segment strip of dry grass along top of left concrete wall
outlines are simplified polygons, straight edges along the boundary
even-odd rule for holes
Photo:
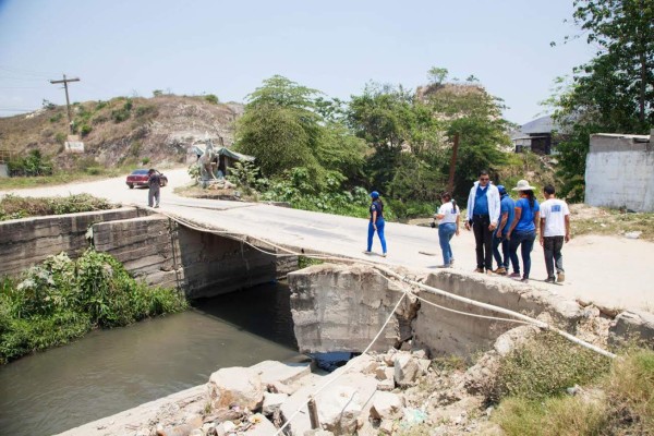
[[[106,210],[116,207],[117,205],[105,198],[97,198],[88,194],[46,198],[5,195],[0,199],[0,221],[46,215]]]

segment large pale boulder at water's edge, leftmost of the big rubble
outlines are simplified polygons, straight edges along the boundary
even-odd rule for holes
[[[216,409],[238,404],[257,410],[264,401],[261,377],[256,371],[240,366],[218,370],[209,378],[209,398]]]

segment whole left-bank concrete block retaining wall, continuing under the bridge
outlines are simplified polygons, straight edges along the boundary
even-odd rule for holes
[[[265,283],[298,267],[294,256],[278,258],[148,214],[122,208],[0,223],[0,276],[15,276],[61,252],[76,257],[90,245],[87,234],[97,251],[114,256],[135,277],[183,289],[192,299]]]

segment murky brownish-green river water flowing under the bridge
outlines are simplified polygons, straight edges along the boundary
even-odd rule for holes
[[[286,284],[206,299],[0,367],[0,435],[51,435],[206,383],[221,367],[301,359]]]

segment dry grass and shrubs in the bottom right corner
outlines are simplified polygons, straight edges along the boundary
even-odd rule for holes
[[[566,388],[581,385],[576,396]],[[654,434],[654,352],[608,361],[542,334],[500,362],[486,392],[508,436]]]

